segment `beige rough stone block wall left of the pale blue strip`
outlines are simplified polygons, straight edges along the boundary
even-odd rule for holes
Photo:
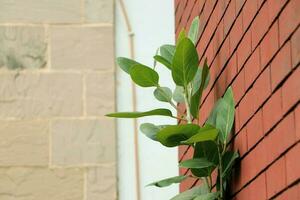
[[[116,199],[112,0],[0,0],[0,199]]]

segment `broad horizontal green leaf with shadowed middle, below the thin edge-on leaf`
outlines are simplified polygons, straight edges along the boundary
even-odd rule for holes
[[[180,145],[181,141],[192,137],[199,129],[196,124],[169,125],[160,130],[156,138],[164,146],[175,147]]]

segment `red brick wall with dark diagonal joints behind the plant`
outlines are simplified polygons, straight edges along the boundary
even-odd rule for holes
[[[200,17],[197,49],[210,65],[199,123],[229,85],[234,90],[231,144],[241,161],[232,199],[300,199],[300,0],[175,0],[175,6],[176,36]],[[179,160],[192,153],[180,147]],[[186,180],[180,190],[196,184]]]

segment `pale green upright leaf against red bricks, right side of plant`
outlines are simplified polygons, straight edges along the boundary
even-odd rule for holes
[[[218,107],[216,127],[220,130],[220,140],[225,142],[229,138],[234,121],[234,100],[232,89],[229,88]]]

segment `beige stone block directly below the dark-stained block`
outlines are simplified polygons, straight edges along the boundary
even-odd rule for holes
[[[0,94],[0,119],[82,116],[80,74],[1,74]]]

